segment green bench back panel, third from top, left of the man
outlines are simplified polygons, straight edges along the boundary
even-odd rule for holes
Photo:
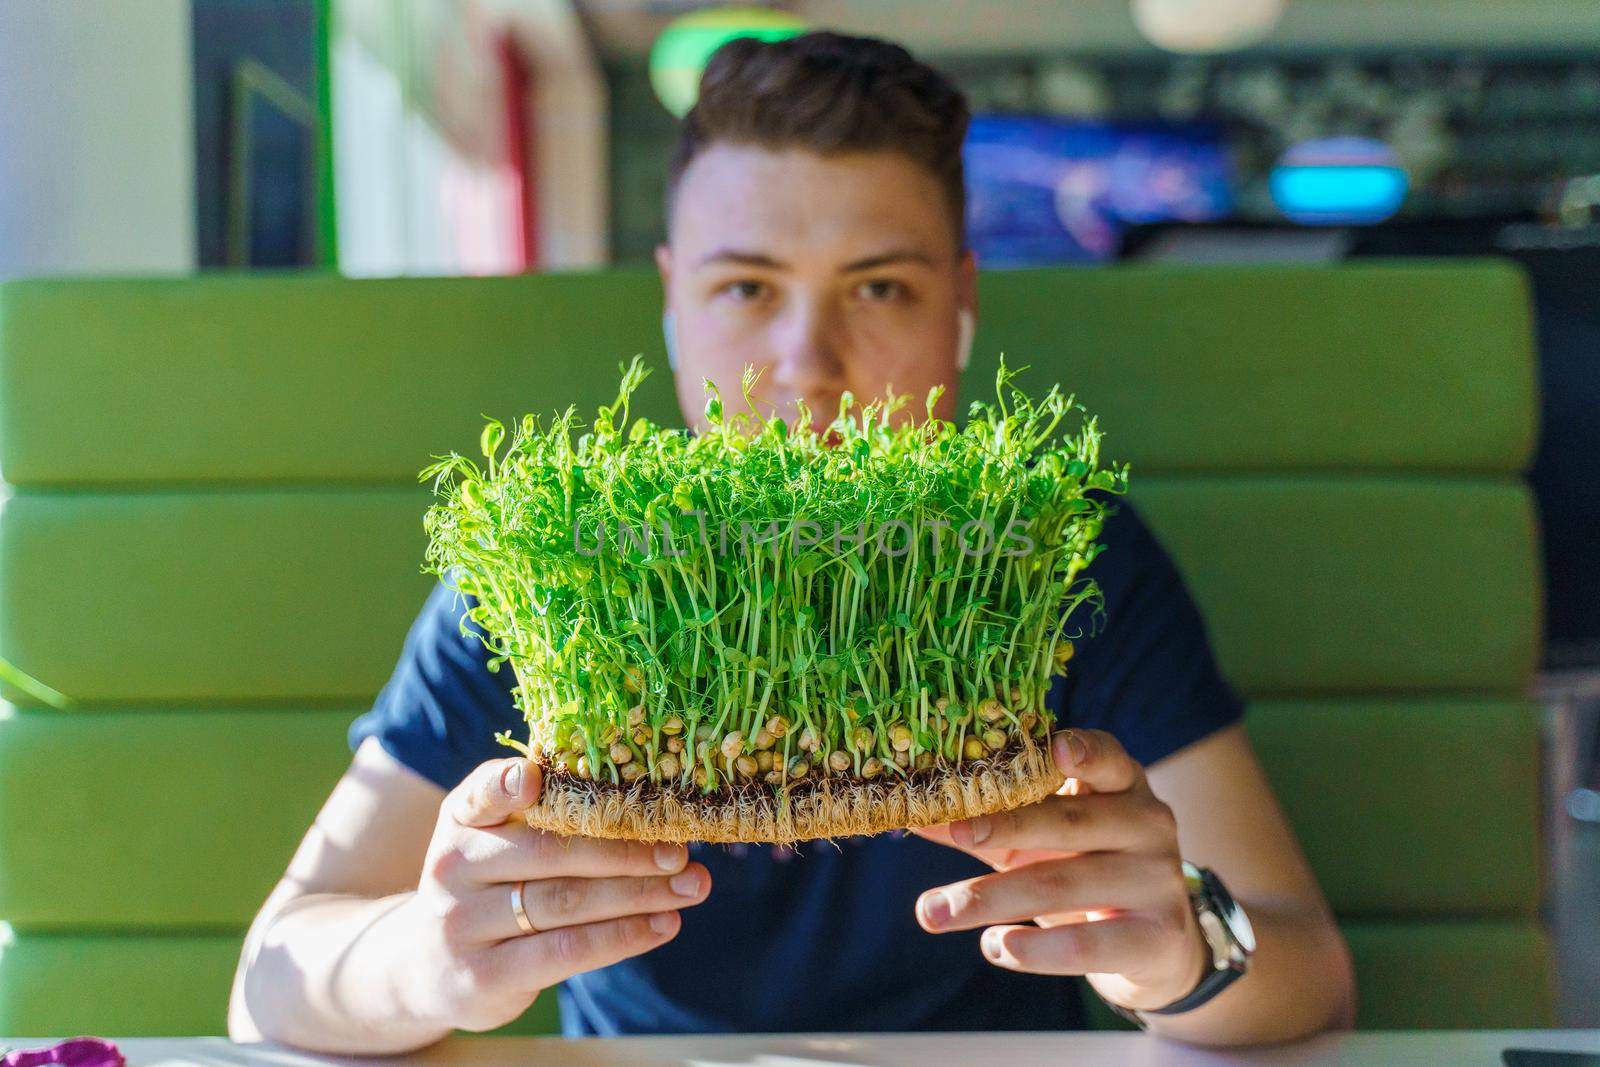
[[[248,925],[349,766],[355,715],[0,718],[0,915],[30,929]]]

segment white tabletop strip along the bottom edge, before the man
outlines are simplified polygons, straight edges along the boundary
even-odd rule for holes
[[[50,1040],[0,1038],[0,1048],[37,1048]],[[126,1038],[117,1046],[130,1067],[317,1067],[374,1061],[306,1056],[226,1038]],[[405,1062],[475,1067],[1222,1067],[1227,1064],[1338,1064],[1376,1067],[1498,1067],[1504,1048],[1600,1053],[1600,1030],[1406,1030],[1336,1033],[1296,1045],[1246,1051],[1206,1051],[1144,1033],[890,1033],[456,1038]],[[400,1062],[387,1059],[381,1062]]]

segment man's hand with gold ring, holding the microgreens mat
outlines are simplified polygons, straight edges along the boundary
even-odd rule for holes
[[[438,811],[416,894],[405,907],[416,966],[398,981],[419,1017],[490,1030],[573,974],[656,949],[699,904],[710,872],[682,845],[558,837],[520,813],[539,798],[539,768],[491,760]],[[512,889],[539,933],[525,934]]]

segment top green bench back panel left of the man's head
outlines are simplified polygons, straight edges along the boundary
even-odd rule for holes
[[[659,314],[626,272],[6,283],[0,475],[414,483],[480,413],[592,411],[640,350],[662,371],[640,408],[677,422]]]

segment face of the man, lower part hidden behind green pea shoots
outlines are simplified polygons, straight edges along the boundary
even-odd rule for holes
[[[955,403],[957,309],[974,309],[976,264],[950,234],[939,182],[898,152],[821,157],[717,144],[678,182],[670,242],[656,250],[677,320],[678,403],[704,429],[702,379],[742,408],[758,370],[762,416],[821,429],[845,390],[890,387]]]

